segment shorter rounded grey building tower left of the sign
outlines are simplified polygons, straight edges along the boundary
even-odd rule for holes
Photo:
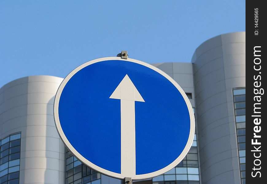
[[[0,183],[64,183],[65,147],[53,103],[63,79],[30,76],[0,89]]]

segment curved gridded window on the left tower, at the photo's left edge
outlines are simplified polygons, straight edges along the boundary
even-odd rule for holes
[[[18,184],[21,133],[5,137],[0,145],[0,184]]]

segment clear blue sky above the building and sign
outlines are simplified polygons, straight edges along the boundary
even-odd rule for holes
[[[1,0],[0,87],[28,75],[65,77],[89,60],[191,62],[203,41],[245,31],[245,0]]]

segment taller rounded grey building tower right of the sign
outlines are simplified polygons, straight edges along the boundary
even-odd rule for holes
[[[205,41],[192,57],[202,184],[245,184],[246,33]]]

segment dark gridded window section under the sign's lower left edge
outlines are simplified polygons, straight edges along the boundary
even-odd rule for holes
[[[82,164],[66,148],[66,184],[100,184],[101,174]]]

